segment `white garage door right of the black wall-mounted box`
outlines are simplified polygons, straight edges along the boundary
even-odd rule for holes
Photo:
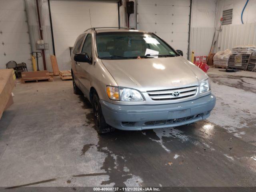
[[[138,0],[139,30],[153,32],[188,54],[190,0]]]

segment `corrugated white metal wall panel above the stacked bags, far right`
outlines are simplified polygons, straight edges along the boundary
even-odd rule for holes
[[[215,46],[215,52],[238,45],[256,45],[256,23],[224,25]]]

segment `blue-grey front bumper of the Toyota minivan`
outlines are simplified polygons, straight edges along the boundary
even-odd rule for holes
[[[116,105],[100,100],[106,123],[121,130],[144,130],[190,124],[210,116],[213,94],[180,103]]]

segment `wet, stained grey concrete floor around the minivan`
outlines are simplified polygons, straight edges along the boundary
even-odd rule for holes
[[[0,120],[0,186],[256,186],[256,73],[247,73],[210,69],[208,120],[102,136],[71,81],[18,84]]]

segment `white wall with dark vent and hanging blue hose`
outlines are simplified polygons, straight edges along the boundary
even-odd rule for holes
[[[216,33],[219,33],[220,18],[223,10],[233,9],[232,24],[221,26],[215,46],[215,52],[232,49],[234,46],[256,44],[256,0],[249,0],[243,14],[246,0],[218,0]]]

